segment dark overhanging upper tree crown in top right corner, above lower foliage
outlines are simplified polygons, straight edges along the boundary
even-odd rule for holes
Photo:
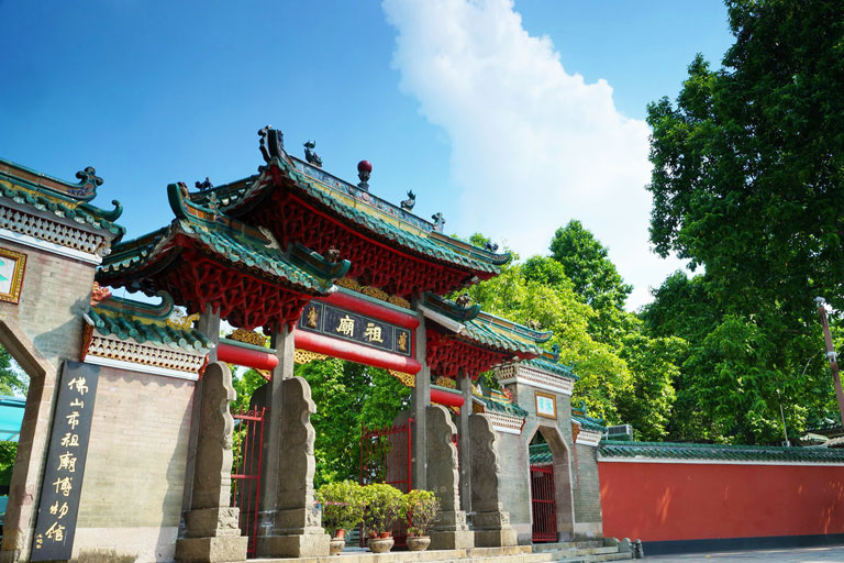
[[[698,55],[648,106],[651,235],[744,312],[844,309],[844,4],[732,0],[723,68]]]

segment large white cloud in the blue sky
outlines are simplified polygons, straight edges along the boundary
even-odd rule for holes
[[[398,30],[401,89],[451,140],[462,233],[546,254],[579,219],[635,286],[634,308],[680,267],[649,252],[648,128],[615,109],[606,80],[569,74],[548,37],[531,36],[510,0],[385,0]],[[451,218],[449,218],[451,219]]]

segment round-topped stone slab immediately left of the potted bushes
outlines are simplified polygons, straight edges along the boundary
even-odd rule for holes
[[[292,341],[292,335],[290,334]],[[291,347],[292,351],[292,347]],[[292,354],[290,357],[292,363]],[[331,539],[321,526],[320,511],[313,505],[314,431],[311,415],[316,407],[311,400],[311,387],[301,377],[273,377],[274,396],[270,419],[279,426],[279,439],[269,442],[276,455],[264,484],[275,498],[262,493],[262,514],[257,538],[260,558],[309,558],[329,554]],[[276,389],[276,386],[277,389]],[[282,398],[276,405],[276,393]],[[265,430],[266,432],[266,430]],[[266,459],[266,457],[265,457]]]

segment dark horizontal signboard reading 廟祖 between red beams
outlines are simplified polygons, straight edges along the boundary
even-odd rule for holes
[[[410,356],[413,352],[409,329],[318,300],[304,307],[297,329],[403,356]]]

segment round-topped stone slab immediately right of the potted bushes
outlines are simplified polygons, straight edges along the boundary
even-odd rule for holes
[[[440,514],[431,532],[432,550],[475,547],[466,512],[460,510],[457,449],[452,442],[456,429],[441,405],[427,407],[427,487],[440,498]]]

